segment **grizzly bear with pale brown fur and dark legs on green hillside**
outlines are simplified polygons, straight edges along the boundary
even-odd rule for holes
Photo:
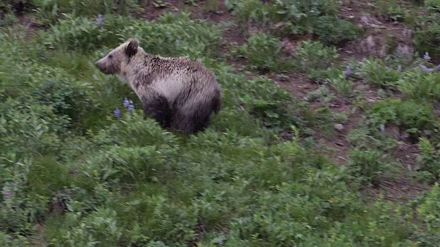
[[[201,62],[146,54],[135,38],[110,51],[96,66],[129,84],[142,102],[144,119],[153,117],[166,130],[203,131],[212,113],[221,109],[220,86]]]

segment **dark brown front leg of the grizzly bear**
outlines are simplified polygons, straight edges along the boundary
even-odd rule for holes
[[[152,117],[164,129],[171,126],[171,108],[168,100],[164,95],[155,95],[154,97],[144,101],[144,119]]]

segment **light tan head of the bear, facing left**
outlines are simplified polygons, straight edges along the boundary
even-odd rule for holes
[[[129,60],[137,54],[139,47],[139,40],[129,38],[126,42],[110,51],[107,56],[98,60],[95,64],[98,69],[107,75],[117,75],[121,73],[123,64],[127,64]]]

